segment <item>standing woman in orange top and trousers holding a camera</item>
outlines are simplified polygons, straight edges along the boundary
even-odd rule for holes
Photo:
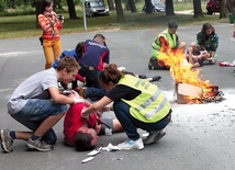
[[[58,18],[53,11],[53,0],[44,0],[37,20],[43,30],[42,45],[46,58],[45,69],[48,69],[52,67],[53,61],[58,59],[60,55],[61,42],[58,30],[63,27],[64,18]],[[54,60],[52,50],[54,53]]]

